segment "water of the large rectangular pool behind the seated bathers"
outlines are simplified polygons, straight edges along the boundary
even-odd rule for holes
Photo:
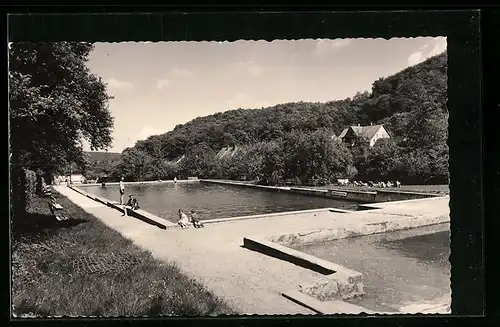
[[[110,201],[119,200],[117,185],[82,189]],[[134,194],[141,209],[172,222],[178,220],[180,208],[195,209],[200,219],[206,220],[320,208],[356,210],[358,205],[351,201],[204,182],[131,184],[125,187],[125,198],[129,194]]]

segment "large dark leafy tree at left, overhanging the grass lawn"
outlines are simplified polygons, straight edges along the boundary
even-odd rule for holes
[[[51,174],[83,164],[82,140],[111,144],[110,96],[86,66],[84,42],[13,43],[9,49],[10,145],[13,167]]]

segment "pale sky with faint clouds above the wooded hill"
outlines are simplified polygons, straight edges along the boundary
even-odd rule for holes
[[[352,97],[445,50],[445,37],[96,43],[88,67],[114,97],[121,152],[199,116]]]

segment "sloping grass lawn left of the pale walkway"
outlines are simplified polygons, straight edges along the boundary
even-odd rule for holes
[[[12,303],[16,316],[234,314],[170,264],[155,260],[67,198],[71,226],[53,222],[36,198],[13,227]]]

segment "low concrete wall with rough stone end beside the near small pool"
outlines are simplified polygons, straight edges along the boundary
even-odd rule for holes
[[[299,285],[302,293],[320,301],[349,299],[364,294],[363,275],[360,272],[262,239],[245,237],[243,246],[324,274],[311,285]]]

